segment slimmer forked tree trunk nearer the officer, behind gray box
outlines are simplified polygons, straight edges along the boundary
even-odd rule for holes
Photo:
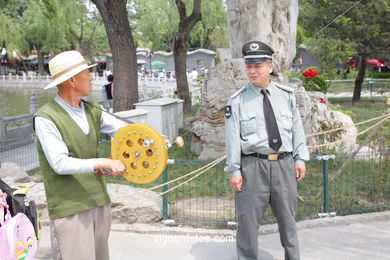
[[[194,0],[192,14],[186,16],[186,6],[181,0],[176,0],[180,16],[179,31],[176,33],[173,44],[173,57],[175,61],[177,94],[184,100],[183,112],[191,111],[191,97],[187,80],[187,50],[188,34],[202,18],[200,12],[201,0]]]

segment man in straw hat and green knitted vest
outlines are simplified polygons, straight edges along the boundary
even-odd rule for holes
[[[95,170],[120,175],[125,166],[97,158],[99,135],[114,135],[126,123],[82,99],[91,93],[88,69],[95,65],[78,51],[50,60],[53,81],[45,89],[57,86],[57,96],[34,116],[54,259],[109,259],[111,201]]]

